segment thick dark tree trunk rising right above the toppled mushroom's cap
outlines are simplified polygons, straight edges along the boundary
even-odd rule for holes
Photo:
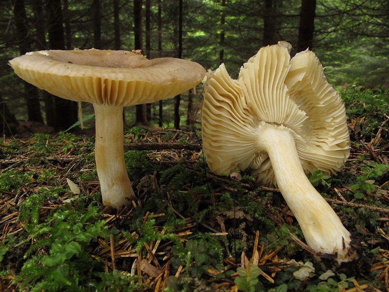
[[[312,50],[315,10],[316,0],[301,0],[298,52],[304,51],[307,48]]]

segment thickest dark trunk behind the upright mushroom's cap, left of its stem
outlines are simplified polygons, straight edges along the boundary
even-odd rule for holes
[[[65,50],[65,37],[60,0],[47,0],[49,45],[52,50]],[[54,97],[55,128],[66,129],[77,121],[77,103]]]

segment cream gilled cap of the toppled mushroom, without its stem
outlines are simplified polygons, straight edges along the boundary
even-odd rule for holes
[[[204,153],[212,171],[255,169],[267,185],[275,179],[258,133],[266,125],[288,128],[305,171],[335,173],[350,153],[345,108],[313,52],[290,59],[288,47],[261,48],[237,80],[224,65],[207,74],[202,109]]]

